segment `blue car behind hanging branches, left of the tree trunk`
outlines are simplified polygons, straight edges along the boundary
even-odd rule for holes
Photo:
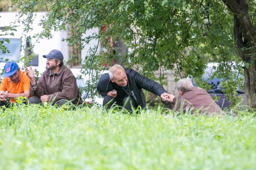
[[[218,67],[218,63],[208,63],[207,68],[205,69],[205,73],[203,74],[203,79],[207,80],[208,84],[211,85],[211,89],[207,90],[207,92],[214,98],[214,96],[218,97],[218,101],[216,103],[221,107],[227,107],[230,105],[229,100],[225,97],[225,94],[221,88],[221,79],[214,77],[213,79],[210,78],[211,73],[215,72],[214,66]],[[237,75],[238,77],[240,75]],[[197,86],[195,82],[193,81],[193,78],[191,78],[191,81],[194,86]],[[236,88],[237,94],[236,96],[242,96],[243,103],[242,105],[246,105],[246,95],[244,91],[240,88]]]

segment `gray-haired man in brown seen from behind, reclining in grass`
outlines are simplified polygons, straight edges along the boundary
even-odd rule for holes
[[[201,113],[221,113],[221,108],[216,104],[212,97],[199,87],[194,87],[188,78],[179,79],[176,83],[179,97],[174,95],[166,96],[164,100],[173,102],[173,111],[186,112],[187,108],[193,114],[196,110]]]

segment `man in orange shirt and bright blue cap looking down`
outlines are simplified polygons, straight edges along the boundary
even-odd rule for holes
[[[1,106],[7,105],[7,102],[4,101],[6,98],[10,98],[10,102],[16,102],[14,98],[23,96],[28,99],[31,96],[30,79],[25,71],[20,70],[16,62],[9,61],[5,64],[3,77],[0,85]]]

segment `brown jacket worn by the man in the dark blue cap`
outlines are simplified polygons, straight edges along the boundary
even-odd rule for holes
[[[72,100],[73,104],[82,104],[75,76],[66,66],[62,66],[55,74],[49,69],[45,70],[36,86],[30,86],[30,92],[39,98],[48,95],[47,100],[52,104],[61,99]]]

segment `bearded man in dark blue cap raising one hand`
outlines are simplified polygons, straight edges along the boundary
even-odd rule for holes
[[[26,74],[30,79],[30,92],[33,95],[29,103],[63,105],[65,103],[82,104],[75,76],[69,68],[63,65],[63,54],[59,50],[51,50],[43,55],[46,61],[46,70],[35,80],[34,71],[25,66]]]

